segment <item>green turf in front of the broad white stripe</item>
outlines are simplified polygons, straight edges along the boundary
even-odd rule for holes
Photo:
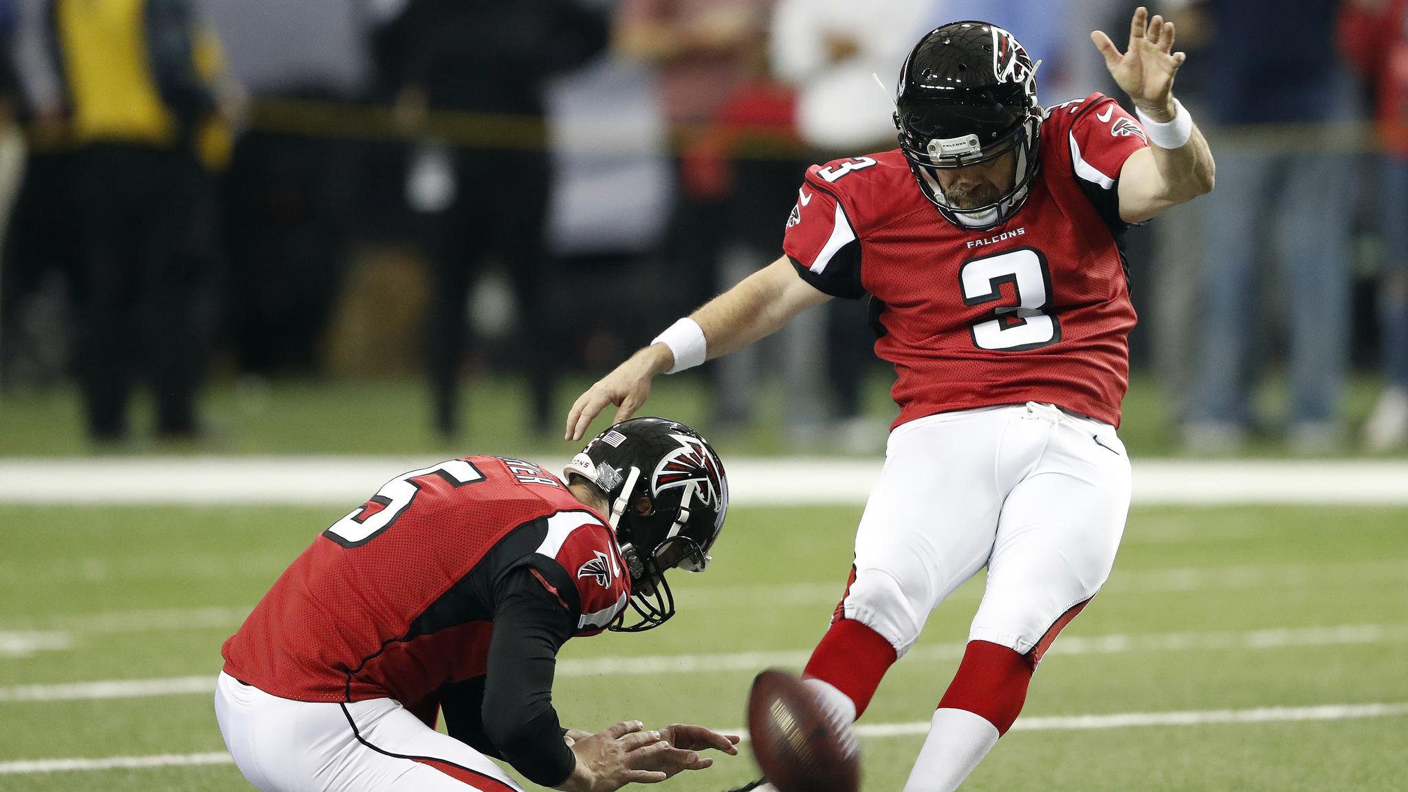
[[[0,688],[214,674],[241,610],[342,513],[8,506]],[[563,657],[810,650],[839,595],[857,516],[736,509],[710,572],[676,575],[676,620],[646,634],[572,641]],[[1408,702],[1405,528],[1408,509],[1135,510],[1115,575],[1048,655],[1025,714]],[[980,585],[936,612],[862,724],[928,719],[956,665],[943,647],[966,637]],[[1378,630],[1360,630],[1369,637],[1357,643],[1302,630],[1340,626]],[[1271,629],[1291,631],[1257,634],[1312,640],[1246,640]],[[35,636],[69,648],[25,654]],[[1108,636],[1126,638],[1091,640]],[[1062,654],[1063,641],[1104,650]],[[746,669],[565,675],[556,703],[565,723],[584,729],[629,717],[738,726],[750,678]],[[919,741],[866,738],[866,789],[898,791]],[[0,762],[218,750],[207,693],[0,700]],[[1405,769],[1408,716],[1014,731],[964,789],[1390,791],[1405,786]],[[660,789],[722,791],[752,775],[739,757]],[[208,765],[0,775],[0,789],[249,786],[234,767]]]

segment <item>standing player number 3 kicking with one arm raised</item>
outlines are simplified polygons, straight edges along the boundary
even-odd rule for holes
[[[1131,28],[1125,54],[1091,38],[1138,121],[1098,93],[1042,109],[1035,65],[1001,28],[926,34],[900,75],[900,148],[810,168],[786,256],[672,326],[567,416],[580,437],[607,404],[628,417],[660,372],[831,297],[870,296],[901,412],[805,675],[857,717],[929,612],[987,567],[907,792],[957,788],[1007,731],[1124,531],[1129,459],[1115,426],[1135,311],[1121,235],[1207,193],[1214,175],[1173,97],[1184,61],[1173,25],[1139,8]]]

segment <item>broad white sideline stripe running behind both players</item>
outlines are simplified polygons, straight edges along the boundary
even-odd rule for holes
[[[348,506],[428,457],[132,457],[0,461],[0,503]],[[538,459],[560,469],[565,459]],[[739,506],[860,505],[881,459],[727,461]],[[1136,505],[1408,505],[1408,461],[1135,459]]]

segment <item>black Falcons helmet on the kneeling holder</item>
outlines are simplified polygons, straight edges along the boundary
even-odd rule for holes
[[[567,462],[563,478],[583,476],[605,493],[631,572],[631,607],[608,627],[638,633],[674,616],[665,571],[703,572],[724,527],[728,479],[724,464],[693,428],[669,419],[631,419],[603,431]]]

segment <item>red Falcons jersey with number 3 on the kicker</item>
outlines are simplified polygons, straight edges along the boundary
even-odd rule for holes
[[[1118,180],[1146,145],[1110,97],[1049,109],[1026,203],[986,231],[945,220],[898,149],[814,165],[783,249],[822,292],[876,300],[894,426],[1018,402],[1118,426],[1135,324]]]

